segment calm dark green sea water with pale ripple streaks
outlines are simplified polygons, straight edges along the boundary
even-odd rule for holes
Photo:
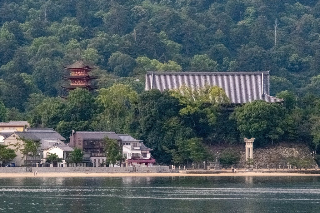
[[[319,211],[316,176],[0,178],[0,212]]]

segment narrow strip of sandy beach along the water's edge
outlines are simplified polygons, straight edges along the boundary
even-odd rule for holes
[[[183,177],[183,176],[320,176],[320,174],[237,172],[218,174],[185,173],[37,173],[37,177]],[[34,173],[0,173],[1,177],[34,177]]]

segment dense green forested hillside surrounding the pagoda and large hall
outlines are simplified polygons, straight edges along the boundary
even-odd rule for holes
[[[0,121],[64,137],[129,133],[165,163],[202,161],[207,146],[242,137],[320,143],[320,1],[2,0],[0,14]],[[62,100],[62,66],[79,59],[80,41],[100,90]],[[270,71],[284,105],[257,101],[230,116],[206,99],[143,91],[146,71]]]

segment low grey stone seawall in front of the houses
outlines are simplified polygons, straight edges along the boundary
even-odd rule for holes
[[[0,173],[2,172],[12,172],[12,173],[22,173],[27,172],[28,167],[0,167]],[[122,172],[170,172],[169,166],[150,166],[150,167],[29,167],[31,171],[29,172],[86,172],[86,173],[122,173]],[[131,169],[131,171],[130,171]]]

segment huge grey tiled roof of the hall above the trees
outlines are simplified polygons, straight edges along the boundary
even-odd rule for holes
[[[269,95],[269,72],[147,72],[146,90],[179,90],[181,86],[201,88],[205,85],[222,88],[231,104],[255,100],[278,103]]]

